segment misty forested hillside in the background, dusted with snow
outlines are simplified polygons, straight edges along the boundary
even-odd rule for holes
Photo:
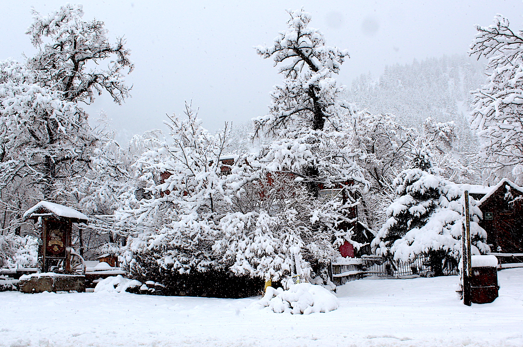
[[[427,117],[454,121],[461,151],[474,150],[469,131],[470,90],[485,84],[484,61],[467,55],[443,56],[412,64],[386,66],[381,76],[361,74],[347,92],[347,100],[371,113],[392,113],[404,126],[419,127]]]

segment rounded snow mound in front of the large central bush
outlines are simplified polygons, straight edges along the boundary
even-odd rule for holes
[[[288,312],[294,315],[328,312],[339,307],[338,298],[334,294],[321,285],[310,283],[292,284],[287,291],[267,287],[258,304],[269,307],[276,313]]]

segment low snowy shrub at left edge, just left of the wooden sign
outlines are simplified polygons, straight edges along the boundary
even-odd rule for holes
[[[0,236],[0,268],[36,268],[38,240],[34,236]]]

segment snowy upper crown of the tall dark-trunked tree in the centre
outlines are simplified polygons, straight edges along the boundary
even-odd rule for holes
[[[257,131],[287,137],[303,126],[322,130],[325,121],[336,124],[340,114],[355,110],[340,98],[344,87],[334,78],[348,52],[327,46],[320,30],[309,27],[311,15],[303,9],[288,13],[287,30],[278,33],[274,45],[255,47],[285,76],[271,92],[269,114],[255,119]]]

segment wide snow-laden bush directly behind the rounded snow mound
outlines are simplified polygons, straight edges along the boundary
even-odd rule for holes
[[[302,281],[318,275],[326,280],[322,270],[339,246],[332,240],[335,224],[343,221],[333,219],[343,209],[342,201],[332,205],[314,198],[292,174],[265,173],[233,199],[236,212],[221,219],[215,254],[237,275],[280,281],[284,287],[293,283],[294,275]]]

